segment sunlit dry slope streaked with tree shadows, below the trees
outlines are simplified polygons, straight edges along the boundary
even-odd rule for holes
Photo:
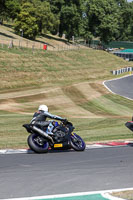
[[[36,40],[28,40],[19,35],[16,35],[12,24],[0,25],[0,44],[10,45],[13,41],[13,45],[16,47],[23,48],[35,48],[43,49],[43,45],[47,45],[48,50],[56,51],[62,49],[75,49],[71,43],[68,43],[64,38],[59,38],[58,36],[53,35],[42,35],[37,37]]]

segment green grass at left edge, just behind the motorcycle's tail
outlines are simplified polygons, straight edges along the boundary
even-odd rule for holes
[[[27,148],[28,134],[22,124],[30,119],[29,116],[0,112],[0,148]]]

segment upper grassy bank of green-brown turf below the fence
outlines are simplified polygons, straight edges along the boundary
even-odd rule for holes
[[[110,71],[129,65],[112,54],[93,49],[35,51],[0,48],[0,89],[65,86],[112,78]],[[9,79],[10,77],[10,79]]]

